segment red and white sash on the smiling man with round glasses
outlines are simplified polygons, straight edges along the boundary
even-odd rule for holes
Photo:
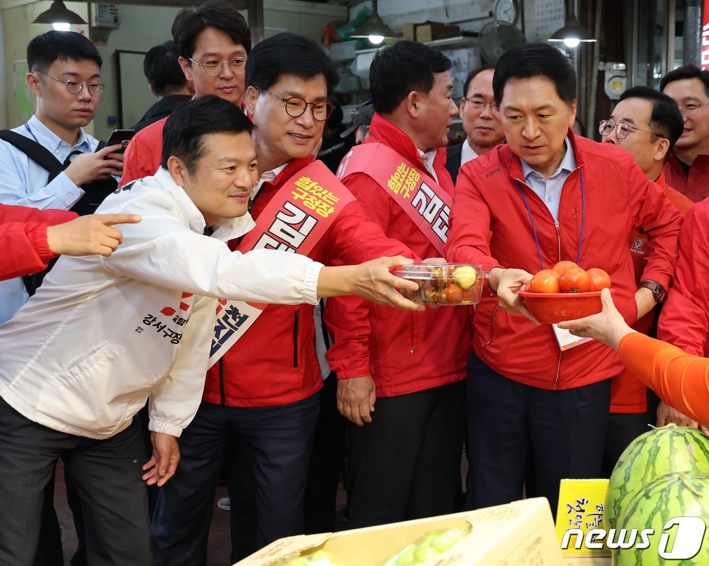
[[[236,248],[279,249],[308,255],[335,222],[343,208],[354,200],[323,162],[314,161],[288,179]],[[209,355],[213,366],[225,351],[243,336],[268,305],[220,299]]]

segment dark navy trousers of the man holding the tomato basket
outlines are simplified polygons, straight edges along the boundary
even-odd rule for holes
[[[467,383],[467,509],[521,499],[530,458],[533,492],[549,499],[554,516],[563,478],[599,477],[610,380],[544,390],[508,379],[471,356]]]

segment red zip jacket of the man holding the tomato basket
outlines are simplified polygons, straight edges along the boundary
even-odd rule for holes
[[[450,261],[493,267],[540,270],[530,213],[535,220],[545,268],[559,259],[576,261],[583,217],[581,267],[600,267],[610,275],[615,305],[635,324],[635,276],[627,240],[640,228],[647,232],[642,278],[671,281],[682,217],[664,191],[643,174],[632,154],[611,144],[569,137],[576,169],[564,182],[559,202],[559,229],[554,218],[524,183],[520,159],[508,145],[464,164],[458,175],[446,253]],[[585,189],[582,215],[581,173]],[[518,180],[519,187],[518,188]],[[561,253],[559,253],[559,251]],[[485,294],[474,320],[473,346],[484,363],[506,377],[542,389],[569,389],[618,375],[618,354],[600,342],[564,352],[549,324],[537,326],[522,315],[508,314]]]

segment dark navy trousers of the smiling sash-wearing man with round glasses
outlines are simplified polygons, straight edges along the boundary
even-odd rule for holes
[[[302,534],[303,494],[317,419],[317,394],[276,407],[203,402],[179,438],[177,472],[157,499],[151,533],[155,564],[206,562],[217,475],[235,432],[244,438],[253,458],[257,548]]]

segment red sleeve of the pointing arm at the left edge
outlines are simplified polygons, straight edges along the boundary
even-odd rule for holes
[[[45,269],[57,256],[47,244],[47,227],[77,216],[68,210],[0,204],[0,281]]]

